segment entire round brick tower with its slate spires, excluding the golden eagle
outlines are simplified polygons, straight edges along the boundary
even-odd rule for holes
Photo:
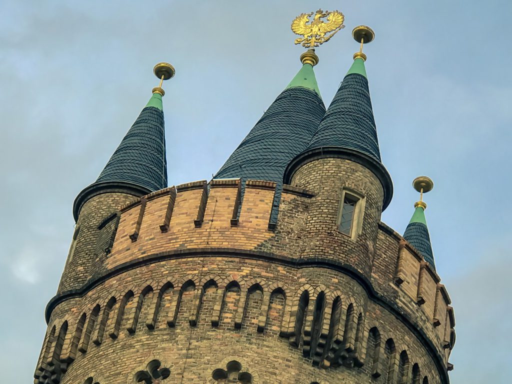
[[[301,60],[209,182],[167,187],[161,82],[153,90],[75,200],[34,383],[449,382],[455,318],[426,204],[403,237],[380,221],[393,185],[366,55],[327,111],[318,57]]]

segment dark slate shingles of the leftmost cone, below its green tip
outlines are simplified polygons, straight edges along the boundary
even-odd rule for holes
[[[167,186],[163,112],[142,110],[95,183],[127,182],[159,190]]]

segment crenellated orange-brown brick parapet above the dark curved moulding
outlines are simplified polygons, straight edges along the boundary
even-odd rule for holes
[[[437,273],[414,247],[379,223],[368,279],[337,254],[317,254],[314,258],[302,254],[305,242],[310,241],[306,223],[313,193],[284,185],[278,221],[271,223],[272,210],[278,209],[275,198],[273,182],[248,180],[242,194],[240,179],[221,179],[209,184],[205,180],[181,184],[136,199],[99,225],[96,268],[82,292],[141,262],[157,263],[194,254],[264,258],[297,268],[322,266],[349,274],[370,297],[404,313],[404,319],[422,330],[448,364],[455,342],[450,297]],[[48,316],[64,296],[66,293],[50,302]]]

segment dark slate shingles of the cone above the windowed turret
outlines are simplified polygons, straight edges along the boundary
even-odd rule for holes
[[[308,149],[326,146],[356,150],[380,162],[366,77],[352,73],[343,79]]]

